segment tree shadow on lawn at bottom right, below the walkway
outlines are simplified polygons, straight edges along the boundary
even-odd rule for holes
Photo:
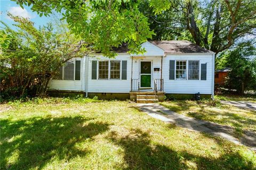
[[[238,151],[223,151],[220,157],[193,155],[186,149],[173,150],[163,144],[151,142],[150,135],[132,129],[126,136],[110,132],[108,139],[124,149],[126,168],[122,169],[253,169],[251,160]],[[224,147],[221,142],[220,147]],[[120,167],[117,167],[117,169]]]

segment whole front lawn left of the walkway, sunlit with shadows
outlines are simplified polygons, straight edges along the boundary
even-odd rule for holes
[[[2,104],[1,169],[255,169],[256,154],[151,118],[130,101]]]

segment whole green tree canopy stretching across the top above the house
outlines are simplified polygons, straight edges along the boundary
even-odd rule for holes
[[[256,35],[256,1],[189,0],[15,0],[40,15],[63,14],[69,28],[94,51],[113,56],[111,47],[128,43],[131,52],[151,39],[189,39],[215,53],[239,38]]]

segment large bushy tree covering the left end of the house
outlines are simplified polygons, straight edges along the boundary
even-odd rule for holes
[[[10,14],[9,14],[10,15]],[[34,27],[25,18],[10,17],[18,30],[1,28],[1,97],[44,95],[50,79],[67,60],[87,54],[79,39],[69,31],[57,33],[51,23]],[[6,39],[8,41],[6,41]]]

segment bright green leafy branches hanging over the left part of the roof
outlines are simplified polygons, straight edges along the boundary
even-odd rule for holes
[[[115,56],[113,47],[127,43],[132,53],[143,52],[140,44],[151,38],[147,18],[138,10],[138,1],[16,0],[21,7],[31,5],[39,15],[53,10],[62,13],[70,30],[81,37],[92,52]]]

